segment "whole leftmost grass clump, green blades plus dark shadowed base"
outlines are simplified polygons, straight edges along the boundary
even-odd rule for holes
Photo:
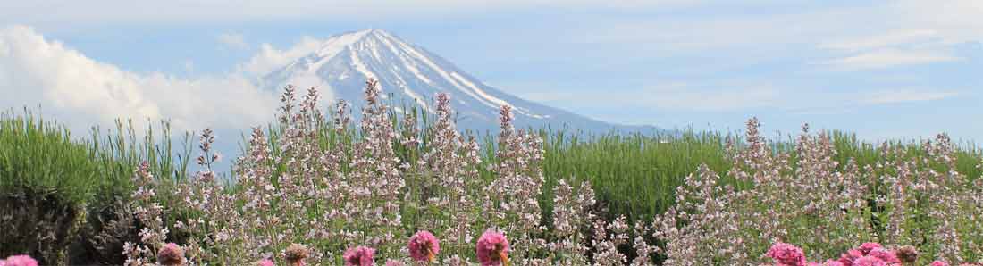
[[[174,152],[166,123],[160,133],[132,125],[118,121],[105,132],[74,135],[27,110],[0,112],[0,253],[69,264],[77,255],[69,254],[70,243],[86,245],[84,236],[100,233],[89,231],[103,229],[103,216],[116,217],[114,204],[128,200],[141,162],[162,180],[184,179],[191,146]]]

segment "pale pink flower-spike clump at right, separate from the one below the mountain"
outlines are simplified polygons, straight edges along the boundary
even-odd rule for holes
[[[885,144],[879,161],[859,166],[839,165],[826,133],[804,127],[794,150],[783,153],[758,129],[752,119],[744,145],[730,145],[734,167],[724,176],[701,167],[676,188],[675,206],[655,223],[665,265],[753,265],[762,253],[800,264],[797,247],[766,250],[781,241],[801,242],[808,257],[849,249],[843,265],[896,263],[874,241],[917,245],[905,255],[983,262],[983,179],[955,171],[947,135],[925,141],[920,153]]]

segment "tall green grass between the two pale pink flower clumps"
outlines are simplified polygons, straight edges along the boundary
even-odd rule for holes
[[[590,182],[608,215],[648,220],[673,202],[675,187],[700,164],[715,171],[729,169],[725,135],[719,133],[540,135],[546,140],[545,211],[551,211],[553,187],[567,179]]]

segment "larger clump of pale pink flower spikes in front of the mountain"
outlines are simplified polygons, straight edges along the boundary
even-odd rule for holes
[[[180,245],[189,263],[223,265],[267,258],[289,265],[468,265],[509,258],[519,265],[581,265],[588,263],[591,244],[617,253],[624,242],[607,236],[588,242],[584,233],[593,226],[605,230],[607,223],[592,213],[594,194],[587,183],[556,186],[555,219],[544,224],[538,201],[543,142],[513,129],[510,107],[501,109],[491,167],[482,169],[477,139],[456,129],[447,95],[437,96],[434,125],[421,134],[409,114],[402,131],[396,130],[375,80],[365,92],[368,106],[359,127],[351,129],[344,101],[335,104],[328,121],[318,111],[316,89],[298,100],[288,87],[277,126],[253,129],[245,153],[236,158],[234,183],[223,183],[211,170],[221,156],[211,149],[209,130],[200,137],[201,170],[188,182],[160,191],[147,168],[138,169],[133,198],[145,228],[141,242],[125,246],[128,265],[162,263],[158,250],[173,234],[190,236]],[[325,139],[325,131],[359,137]],[[482,171],[495,178],[484,179]],[[168,199],[175,201],[157,203]],[[619,234],[628,229],[617,228]],[[495,238],[484,241],[474,237],[482,232],[498,233],[486,234]],[[483,249],[488,244],[492,249]]]

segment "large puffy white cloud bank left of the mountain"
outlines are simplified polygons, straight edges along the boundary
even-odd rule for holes
[[[41,105],[76,131],[133,118],[176,129],[242,128],[272,118],[276,97],[241,75],[178,79],[96,62],[30,27],[0,28],[0,106]]]

